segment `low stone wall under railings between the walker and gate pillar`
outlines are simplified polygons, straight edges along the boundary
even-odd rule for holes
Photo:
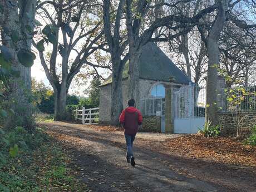
[[[139,132],[161,132],[161,116],[144,116]]]

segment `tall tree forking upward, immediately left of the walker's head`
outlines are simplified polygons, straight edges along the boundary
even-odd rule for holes
[[[117,125],[119,115],[122,112],[122,72],[128,55],[125,53],[127,46],[126,35],[122,35],[121,20],[123,19],[125,0],[104,0],[104,33],[109,45],[112,61],[112,85],[111,85],[111,124]],[[116,8],[117,7],[117,8]],[[111,9],[112,8],[112,9]],[[114,19],[114,23],[112,20]]]

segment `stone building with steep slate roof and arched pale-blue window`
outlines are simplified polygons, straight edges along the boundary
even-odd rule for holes
[[[189,78],[165,55],[155,43],[147,43],[142,48],[139,61],[140,79],[139,79],[139,97],[140,100],[151,97],[165,97],[165,85],[170,85],[170,77],[174,79],[173,85],[190,85]],[[129,64],[126,63],[122,81],[122,98],[124,108],[129,99]],[[111,82],[110,75],[100,86],[100,121],[110,121],[111,110]]]

